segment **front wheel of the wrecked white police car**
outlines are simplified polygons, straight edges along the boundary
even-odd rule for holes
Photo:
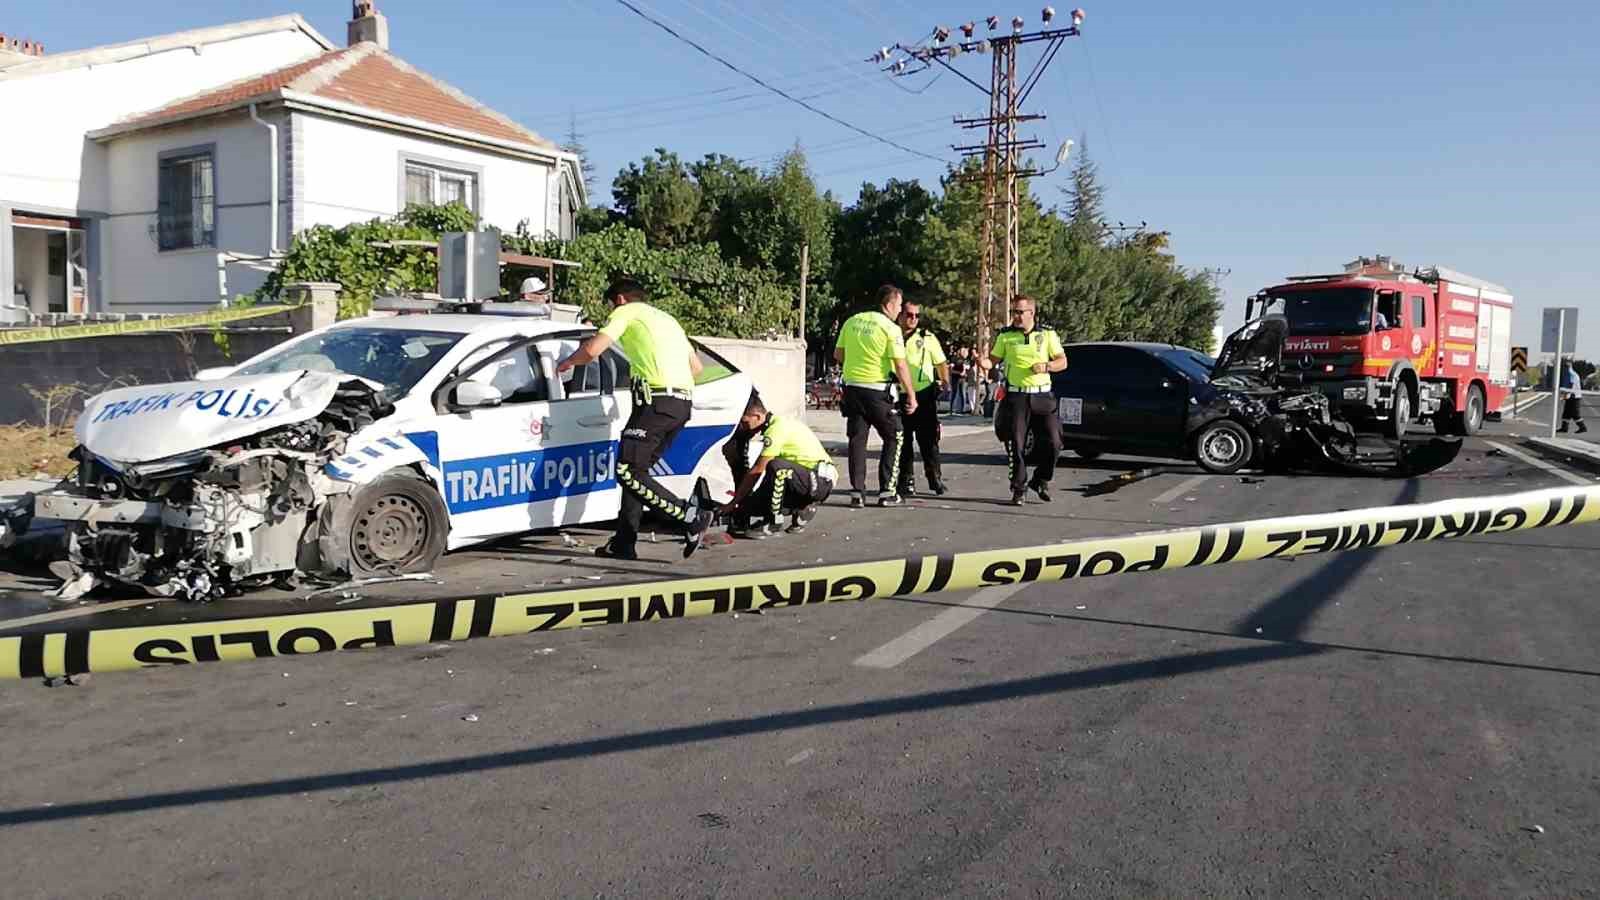
[[[434,485],[389,472],[355,492],[331,536],[350,577],[371,578],[432,572],[448,535],[450,512]]]

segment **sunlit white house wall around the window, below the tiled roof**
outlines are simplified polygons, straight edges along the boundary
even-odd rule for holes
[[[304,221],[342,226],[400,211],[400,154],[478,171],[478,210],[483,223],[514,231],[528,219],[541,234],[549,219],[547,191],[555,189],[554,165],[472,151],[443,141],[400,135],[341,119],[294,112],[294,189]]]

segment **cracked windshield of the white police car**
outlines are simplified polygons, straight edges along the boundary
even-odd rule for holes
[[[451,331],[334,328],[286,346],[234,375],[275,375],[298,368],[341,372],[382,384],[384,396],[397,400],[458,341],[461,335]]]

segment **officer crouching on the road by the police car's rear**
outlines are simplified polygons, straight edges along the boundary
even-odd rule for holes
[[[733,500],[718,512],[744,522],[763,516],[766,520],[760,527],[746,532],[755,540],[779,533],[784,512],[790,514],[787,530],[803,532],[816,516],[816,504],[827,500],[838,479],[822,442],[803,421],[773,415],[755,396],[744,407],[739,428],[742,432],[758,434],[765,447],[739,479]]]

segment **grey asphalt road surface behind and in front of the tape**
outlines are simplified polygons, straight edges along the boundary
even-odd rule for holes
[[[1022,509],[973,436],[947,444],[952,493],[910,509],[835,504],[688,565],[544,540],[440,575],[837,562],[1594,477],[1515,428],[1414,482],[1176,468],[1072,493],[1141,466],[1102,460]],[[1558,528],[3,684],[5,895],[1595,895],[1595,549],[1600,528]]]

